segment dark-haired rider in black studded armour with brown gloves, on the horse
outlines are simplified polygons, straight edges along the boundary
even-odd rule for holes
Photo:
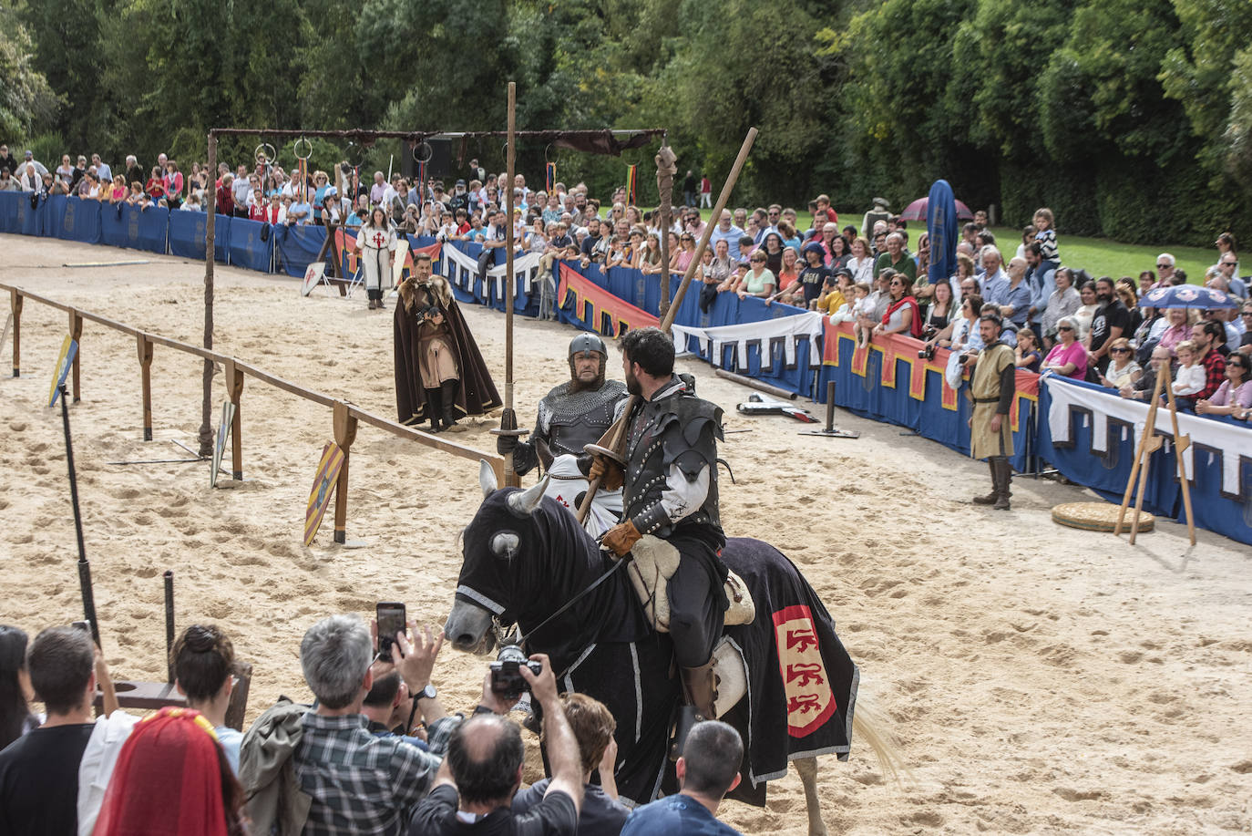
[[[716,717],[714,644],[727,607],[726,536],[717,513],[717,441],[721,407],[700,400],[674,374],[674,343],[657,328],[621,338],[626,387],[639,401],[627,421],[625,471],[597,455],[591,476],[606,488],[625,485],[622,521],[601,543],[625,556],[645,534],[667,540],[681,555],[670,578],[670,637],[690,703]]]

